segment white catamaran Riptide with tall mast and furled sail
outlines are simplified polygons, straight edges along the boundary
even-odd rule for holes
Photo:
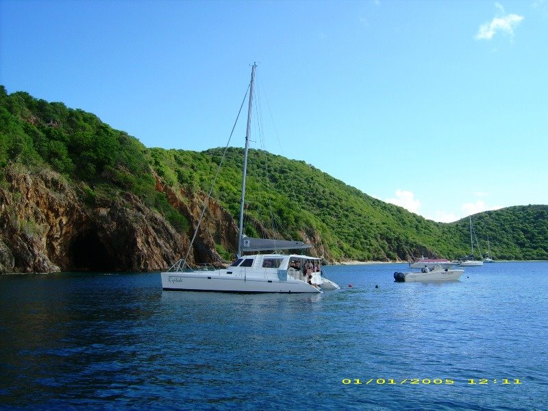
[[[321,275],[321,258],[299,254],[255,254],[244,252],[307,249],[301,241],[249,238],[243,234],[245,179],[247,153],[251,134],[251,108],[256,64],[251,68],[247,131],[242,175],[242,197],[238,224],[238,259],[227,269],[192,271],[186,260],[179,260],[163,272],[163,290],[221,291],[221,292],[323,292],[340,287]],[[192,243],[190,244],[190,247]],[[187,254],[188,257],[188,254]]]

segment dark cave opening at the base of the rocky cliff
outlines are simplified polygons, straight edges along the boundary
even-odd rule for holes
[[[112,257],[94,230],[79,233],[72,244],[71,251],[75,271],[116,271],[119,269],[119,260]]]

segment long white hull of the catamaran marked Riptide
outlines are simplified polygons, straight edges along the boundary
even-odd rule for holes
[[[216,271],[193,273],[162,273],[162,288],[174,291],[215,292],[323,292],[297,279],[248,278],[219,274]],[[334,284],[334,283],[333,283]],[[336,284],[335,284],[336,285]]]

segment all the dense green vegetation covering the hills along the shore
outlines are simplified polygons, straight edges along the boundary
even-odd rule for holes
[[[155,191],[152,171],[173,188],[207,192],[223,149],[202,153],[147,149],[97,116],[47,103],[0,86],[0,165],[51,167],[79,186],[93,206],[133,192],[179,230],[183,216]],[[230,148],[214,197],[238,216],[242,149]],[[319,232],[336,259],[396,260],[408,256],[458,258],[470,252],[469,221],[434,223],[370,197],[315,169],[265,151],[250,151],[246,233],[260,224],[284,238]],[[3,178],[0,175],[0,178]],[[497,259],[548,259],[548,206],[517,206],[473,216],[480,249],[490,238]],[[476,258],[479,254],[476,253]]]

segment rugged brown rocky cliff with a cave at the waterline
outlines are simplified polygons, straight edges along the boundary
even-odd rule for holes
[[[175,193],[157,178],[190,222],[194,232],[203,199]],[[0,187],[0,272],[158,271],[188,249],[188,233],[175,231],[164,216],[136,195],[112,200],[82,200],[79,187],[51,170],[29,171],[21,164],[5,169]],[[236,247],[236,224],[219,204],[209,200],[189,262],[219,262],[215,245]]]

